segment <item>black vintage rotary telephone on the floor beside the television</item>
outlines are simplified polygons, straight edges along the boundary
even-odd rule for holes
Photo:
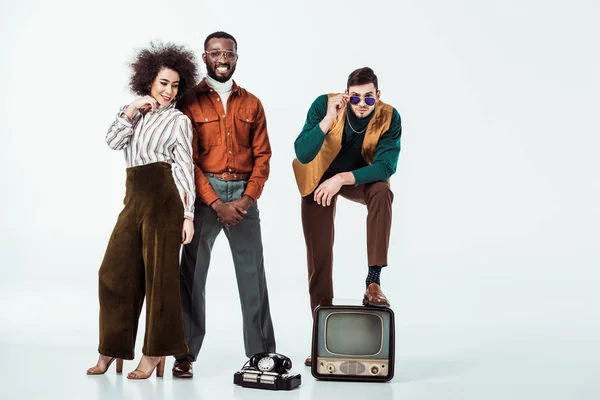
[[[278,353],[254,354],[241,370],[233,374],[233,383],[244,387],[291,390],[301,383],[300,374],[290,374],[292,360]]]

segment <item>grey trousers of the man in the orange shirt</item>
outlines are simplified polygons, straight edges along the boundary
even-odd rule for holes
[[[242,197],[247,181],[224,181],[207,176],[222,201]],[[260,216],[254,203],[238,224],[226,227],[217,221],[217,213],[196,202],[194,238],[183,246],[181,254],[181,305],[188,354],[176,356],[196,361],[206,334],[205,286],[210,256],[219,233],[225,231],[233,255],[237,280],[246,356],[275,352],[275,335],[265,278]]]

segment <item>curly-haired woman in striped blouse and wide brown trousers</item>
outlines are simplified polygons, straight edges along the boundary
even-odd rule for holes
[[[124,209],[100,266],[100,357],[89,375],[134,358],[146,297],[142,359],[127,376],[162,376],[165,356],[187,352],[179,295],[179,249],[194,234],[192,126],[175,100],[196,84],[192,52],[152,44],[131,63],[130,89],[141,96],[121,107],[106,142],[127,164]]]

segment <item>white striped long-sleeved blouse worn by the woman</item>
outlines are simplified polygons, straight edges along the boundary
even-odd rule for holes
[[[171,103],[145,115],[136,110],[129,122],[121,107],[106,134],[113,150],[124,150],[127,167],[168,162],[183,203],[185,218],[194,219],[194,164],[192,161],[192,124]]]

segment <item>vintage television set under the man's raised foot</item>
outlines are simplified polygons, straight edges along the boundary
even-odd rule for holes
[[[315,309],[311,373],[317,379],[389,381],[394,377],[394,312],[346,301]]]

